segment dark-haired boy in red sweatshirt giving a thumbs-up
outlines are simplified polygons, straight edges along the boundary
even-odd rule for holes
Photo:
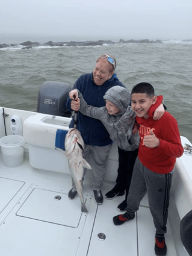
[[[135,161],[125,214],[113,217],[115,225],[134,219],[140,201],[147,192],[149,208],[156,228],[155,254],[166,255],[166,233],[169,193],[176,157],[181,157],[178,123],[168,112],[161,119],[153,120],[156,102],[151,84],[140,83],[131,92],[131,107],[139,125],[140,145]],[[161,96],[161,101],[163,96]],[[158,99],[159,100],[159,99]]]

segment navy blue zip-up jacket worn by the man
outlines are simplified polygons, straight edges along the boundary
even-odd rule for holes
[[[107,90],[113,86],[125,87],[117,78],[116,73],[109,80],[105,81],[102,86],[97,86],[94,83],[93,73],[87,73],[79,76],[72,89],[78,89],[88,105],[92,105],[93,107],[104,107],[104,95]],[[72,111],[70,104],[71,99],[68,96],[66,107]],[[70,128],[73,127],[73,118],[69,125]],[[112,143],[110,134],[102,122],[98,119],[84,116],[81,112],[78,112],[77,129],[80,131],[82,139],[84,139],[86,145],[107,146]]]

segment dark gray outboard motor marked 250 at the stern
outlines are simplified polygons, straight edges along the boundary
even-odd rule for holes
[[[66,107],[67,96],[71,87],[69,84],[46,81],[39,89],[37,112],[54,116],[71,117],[72,111]]]

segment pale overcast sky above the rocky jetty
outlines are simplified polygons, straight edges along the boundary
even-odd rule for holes
[[[192,39],[192,0],[1,0],[0,36]]]

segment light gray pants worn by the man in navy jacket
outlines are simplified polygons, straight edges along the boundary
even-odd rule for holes
[[[104,176],[106,172],[106,165],[108,155],[110,153],[111,145],[107,146],[91,146],[85,145],[83,158],[90,164],[92,173],[93,190],[101,189],[103,186]],[[84,176],[87,169],[84,168]],[[90,172],[90,170],[88,170]],[[82,181],[84,178],[82,179]],[[72,179],[72,186],[75,187]]]

